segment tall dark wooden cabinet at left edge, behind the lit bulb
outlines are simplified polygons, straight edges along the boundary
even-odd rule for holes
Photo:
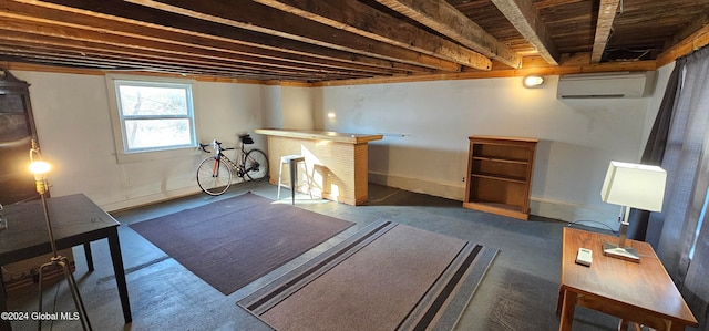
[[[37,141],[27,82],[0,69],[0,204],[38,198],[30,164]]]

